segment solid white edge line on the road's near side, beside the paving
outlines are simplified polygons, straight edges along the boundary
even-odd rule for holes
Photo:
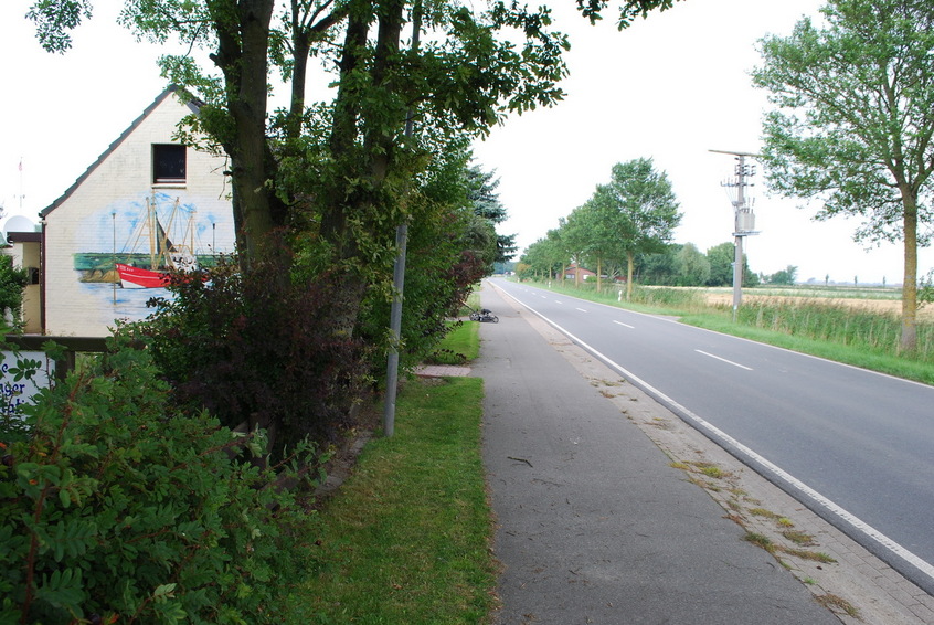
[[[910,563],[912,566],[914,566],[919,571],[921,571],[924,575],[927,575],[930,579],[934,580],[934,566],[932,566],[931,564],[928,564],[924,560],[922,560],[919,555],[915,555],[914,553],[912,553],[911,551],[909,551],[908,549],[905,549],[904,547],[902,547],[901,544],[899,544],[898,542],[895,542],[894,540],[892,540],[891,538],[885,536],[884,533],[880,532],[879,530],[877,530],[875,528],[873,528],[869,523],[861,520],[859,517],[856,517],[855,515],[845,510],[843,508],[841,508],[840,506],[838,506],[837,504],[835,504],[830,499],[826,498],[820,492],[816,491],[815,489],[813,489],[811,487],[809,487],[808,485],[806,485],[805,483],[803,483],[802,480],[799,480],[798,478],[793,476],[792,474],[787,473],[783,468],[779,468],[777,465],[771,463],[770,460],[765,459],[763,456],[753,452],[750,447],[746,447],[745,445],[743,445],[742,443],[740,443],[739,441],[736,441],[735,438],[733,438],[732,436],[730,436],[729,434],[726,434],[725,432],[720,430],[719,427],[714,426],[711,423],[708,423],[707,421],[704,421],[700,416],[696,415],[694,413],[692,413],[691,411],[689,411],[688,409],[686,409],[684,406],[682,406],[681,404],[679,404],[678,402],[676,402],[675,400],[672,400],[671,398],[669,398],[668,395],[666,395],[665,393],[662,393],[661,391],[659,391],[658,389],[652,386],[651,384],[647,383],[645,380],[643,380],[638,375],[634,375],[630,371],[627,371],[622,366],[617,364],[616,362],[614,362],[613,360],[611,360],[609,358],[607,358],[606,356],[604,356],[599,351],[595,350],[590,345],[585,343],[584,341],[582,341],[581,339],[579,339],[577,337],[575,337],[574,335],[572,335],[571,332],[569,332],[567,330],[565,330],[564,328],[562,328],[561,326],[559,326],[558,324],[555,324],[554,321],[552,321],[551,319],[549,319],[548,317],[545,317],[544,315],[542,315],[541,312],[539,312],[538,310],[535,310],[534,308],[529,306],[528,304],[519,301],[513,295],[506,293],[506,290],[502,290],[502,289],[500,289],[500,290],[503,294],[511,297],[512,299],[514,299],[518,304],[524,306],[526,308],[528,308],[529,310],[531,310],[532,312],[534,312],[535,315],[541,317],[545,322],[548,322],[549,325],[554,327],[558,331],[562,332],[563,335],[565,335],[567,338],[570,338],[571,340],[573,340],[574,342],[576,342],[581,347],[583,347],[585,350],[590,351],[591,353],[593,353],[594,356],[596,356],[597,358],[603,360],[606,364],[608,364],[609,367],[612,367],[612,368],[616,369],[617,371],[619,371],[620,373],[623,373],[623,375],[627,377],[629,380],[637,381],[638,384],[641,385],[644,389],[650,391],[656,396],[664,399],[670,405],[677,407],[679,411],[681,411],[681,413],[684,416],[687,416],[688,419],[693,421],[699,428],[705,430],[707,432],[709,432],[710,434],[712,434],[714,437],[719,438],[720,441],[723,441],[724,443],[728,443],[728,444],[734,446],[736,449],[740,449],[742,453],[749,455],[750,458],[752,458],[753,460],[758,463],[764,469],[768,470],[770,473],[772,473],[773,475],[775,475],[779,479],[789,484],[793,488],[797,489],[799,492],[802,492],[803,495],[810,498],[816,505],[820,506],[821,508],[827,510],[829,513],[831,513],[831,515],[840,518],[845,522],[849,523],[850,526],[852,526],[857,530],[861,531],[864,536],[874,540],[879,545],[888,549],[889,551],[891,551],[892,553],[894,553],[895,555],[898,555],[899,558],[901,558],[905,562]]]

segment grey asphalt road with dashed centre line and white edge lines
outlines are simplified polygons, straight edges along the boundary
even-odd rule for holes
[[[934,593],[934,388],[493,282]]]

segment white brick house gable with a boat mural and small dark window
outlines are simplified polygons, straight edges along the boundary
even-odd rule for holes
[[[43,333],[104,337],[115,319],[140,319],[148,299],[170,296],[158,277],[130,288],[144,282],[121,283],[117,268],[147,273],[152,286],[170,257],[233,252],[226,159],[172,140],[192,112],[168,88],[40,212]]]

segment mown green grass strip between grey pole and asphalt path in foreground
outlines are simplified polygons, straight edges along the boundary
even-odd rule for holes
[[[321,510],[295,623],[484,623],[496,563],[480,456],[482,380],[414,380]]]

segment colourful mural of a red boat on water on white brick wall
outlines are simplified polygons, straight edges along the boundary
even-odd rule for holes
[[[210,208],[179,194],[149,192],[118,200],[86,220],[73,254],[82,290],[100,307],[103,322],[145,318],[171,269],[211,267],[234,250],[230,204]]]

